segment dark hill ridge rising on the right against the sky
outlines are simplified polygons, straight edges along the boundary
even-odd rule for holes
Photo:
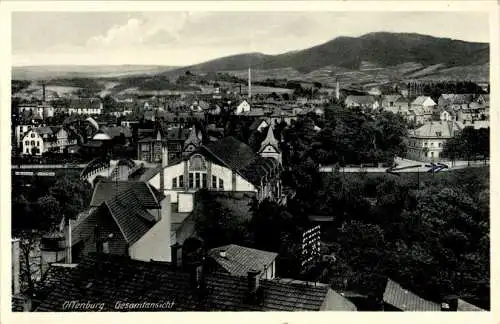
[[[309,73],[329,65],[359,69],[363,61],[381,67],[407,62],[425,66],[444,64],[447,67],[481,65],[489,63],[489,44],[415,33],[375,32],[361,37],[337,37],[308,49],[278,55],[233,55],[185,69],[213,72],[243,70],[252,66],[263,70],[293,68],[302,73]]]

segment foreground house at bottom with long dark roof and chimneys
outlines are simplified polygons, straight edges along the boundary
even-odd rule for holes
[[[40,285],[35,311],[116,312],[127,304],[143,308],[123,310],[356,311],[349,300],[326,284],[261,279],[257,272],[244,277],[210,273],[203,261],[190,261],[185,256],[180,262],[166,263],[93,254],[70,268],[70,275],[59,274],[61,268],[53,266],[51,280]],[[146,304],[143,296],[148,298]],[[68,301],[85,301],[96,307],[67,309]],[[157,308],[147,308],[147,304]]]

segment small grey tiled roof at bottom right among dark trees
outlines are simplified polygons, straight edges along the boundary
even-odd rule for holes
[[[441,305],[420,298],[391,279],[387,280],[387,286],[384,291],[384,302],[407,312],[441,310]]]

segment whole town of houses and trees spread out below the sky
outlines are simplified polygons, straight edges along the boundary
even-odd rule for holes
[[[12,311],[490,310],[489,78],[258,59],[13,73]]]

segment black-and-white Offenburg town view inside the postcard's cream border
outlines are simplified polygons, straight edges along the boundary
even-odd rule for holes
[[[11,312],[490,312],[491,12],[90,6],[10,13]]]

